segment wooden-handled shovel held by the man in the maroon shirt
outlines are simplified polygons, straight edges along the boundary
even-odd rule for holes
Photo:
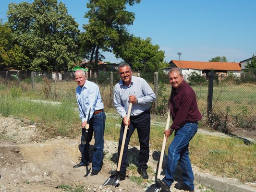
[[[169,129],[169,123],[170,123],[170,110],[168,110],[168,117],[167,117],[167,121],[166,121],[166,126],[165,126],[165,130]],[[158,175],[157,175],[157,179],[160,179],[160,175],[161,175],[161,169],[162,169],[162,164],[163,164],[163,157],[164,157],[164,149],[165,149],[165,144],[166,144],[166,137],[164,134],[164,139],[163,139],[163,144],[162,144],[162,150],[161,150],[161,155],[160,155],[160,159],[159,159],[159,165],[158,165]],[[146,192],[159,192],[160,190],[160,186],[158,184],[152,184],[150,185]]]

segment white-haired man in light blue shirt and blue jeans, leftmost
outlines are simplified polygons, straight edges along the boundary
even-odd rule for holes
[[[85,72],[77,70],[74,73],[75,81],[78,84],[76,88],[76,100],[79,108],[79,117],[82,120],[82,137],[81,137],[81,162],[74,166],[88,166],[89,148],[94,132],[94,150],[92,154],[92,172],[91,175],[98,175],[102,168],[103,148],[104,148],[104,131],[106,116],[104,113],[104,105],[101,100],[98,85],[86,80]],[[89,122],[87,122],[89,117]],[[86,124],[89,129],[85,130]],[[86,139],[84,139],[86,137]],[[86,144],[83,144],[83,140]]]

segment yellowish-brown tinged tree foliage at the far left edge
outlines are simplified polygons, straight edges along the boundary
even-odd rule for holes
[[[14,44],[12,30],[7,24],[0,24],[0,69],[24,69],[26,59],[22,49]]]

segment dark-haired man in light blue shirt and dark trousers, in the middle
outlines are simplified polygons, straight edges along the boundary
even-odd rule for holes
[[[140,152],[138,157],[138,172],[144,179],[148,179],[146,173],[147,161],[149,158],[149,135],[150,135],[150,103],[156,99],[156,95],[147,84],[147,82],[140,77],[132,75],[132,70],[129,64],[122,63],[118,67],[121,81],[115,85],[114,90],[114,106],[117,112],[122,117],[122,124],[120,130],[118,154],[120,154],[123,131],[127,119],[127,111],[129,103],[133,103],[130,119],[128,120],[128,132],[125,140],[122,163],[119,176],[122,180],[125,179],[127,167],[127,151],[128,144],[135,129],[137,129]],[[119,156],[119,155],[118,155]],[[111,175],[116,175],[116,171],[110,171]]]

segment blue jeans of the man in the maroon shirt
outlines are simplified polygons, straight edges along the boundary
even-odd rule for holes
[[[191,167],[188,145],[197,132],[197,123],[185,123],[183,127],[175,130],[175,136],[168,149],[167,168],[164,181],[171,187],[178,161],[183,170],[183,182],[189,189],[194,190],[194,175]]]

